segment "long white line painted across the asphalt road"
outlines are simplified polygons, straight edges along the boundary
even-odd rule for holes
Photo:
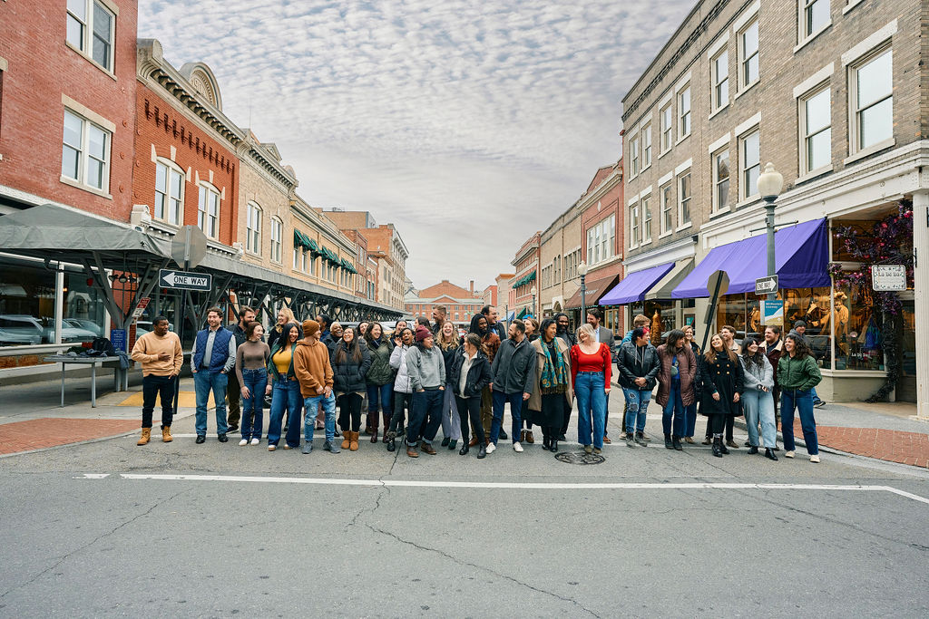
[[[98,479],[85,473],[87,479]],[[823,490],[831,492],[890,492],[929,505],[929,498],[913,495],[889,485],[859,484],[741,484],[726,482],[691,482],[674,484],[617,482],[605,484],[545,484],[512,482],[448,482],[415,480],[339,479],[327,477],[261,477],[247,475],[184,475],[166,473],[120,473],[126,480],[172,482],[243,482],[250,484],[360,485],[407,488],[478,488],[496,490]]]

